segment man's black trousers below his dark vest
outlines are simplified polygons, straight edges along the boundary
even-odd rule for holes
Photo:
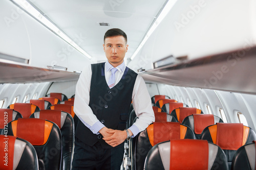
[[[121,146],[112,149],[103,149],[99,142],[92,147],[75,138],[72,170],[120,170],[124,148]]]

